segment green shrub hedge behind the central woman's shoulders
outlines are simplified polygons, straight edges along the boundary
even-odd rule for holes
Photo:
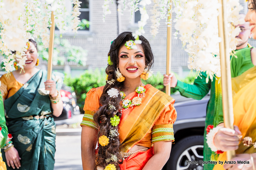
[[[143,80],[144,84],[151,84],[158,90],[165,92],[165,86],[163,85],[163,75],[157,72],[149,80]],[[192,84],[195,80],[195,75],[190,74],[185,79],[181,79],[176,75],[178,80],[185,83]],[[70,75],[65,75],[64,84],[70,86],[72,90],[76,93],[77,105],[80,108],[81,113],[83,113],[84,100],[86,98],[86,93],[91,88],[97,88],[106,84],[106,73],[105,69],[101,68],[95,70],[85,70],[79,77],[71,77]],[[171,94],[176,92],[174,88],[171,88]]]

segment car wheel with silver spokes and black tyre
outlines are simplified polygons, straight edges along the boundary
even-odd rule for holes
[[[199,161],[203,160],[204,136],[196,135],[186,137],[175,143],[172,147],[170,158],[166,163],[166,170],[203,170],[204,165]],[[189,164],[186,161],[198,161],[196,164]]]

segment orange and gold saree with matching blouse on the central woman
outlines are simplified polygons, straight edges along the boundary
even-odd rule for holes
[[[174,99],[157,90],[151,85],[145,85],[145,97],[142,104],[123,111],[119,123],[120,150],[129,152],[134,145],[149,147],[145,152],[137,152],[128,157],[122,165],[122,170],[141,170],[154,155],[153,143],[159,141],[174,141],[173,123],[177,113],[173,107]],[[81,126],[88,126],[98,130],[93,115],[100,107],[99,98],[103,87],[91,89],[87,93],[84,105],[84,117]],[[137,96],[133,92],[126,99]]]

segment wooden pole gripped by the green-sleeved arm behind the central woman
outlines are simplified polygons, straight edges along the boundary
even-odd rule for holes
[[[172,1],[170,3],[170,10],[172,10]],[[169,11],[168,11],[169,13]],[[168,21],[171,21],[167,25],[167,52],[166,52],[166,75],[171,73],[171,59],[172,59],[172,11],[169,13]],[[165,93],[171,95],[171,86],[166,85]]]

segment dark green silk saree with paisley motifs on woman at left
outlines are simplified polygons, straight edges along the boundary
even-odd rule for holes
[[[14,147],[21,158],[22,170],[53,170],[55,154],[55,123],[49,91],[44,82],[47,71],[39,70],[13,96],[4,101],[7,128]],[[52,73],[57,90],[61,89],[62,75]],[[3,161],[5,152],[1,150]],[[7,169],[13,169],[8,167]]]

